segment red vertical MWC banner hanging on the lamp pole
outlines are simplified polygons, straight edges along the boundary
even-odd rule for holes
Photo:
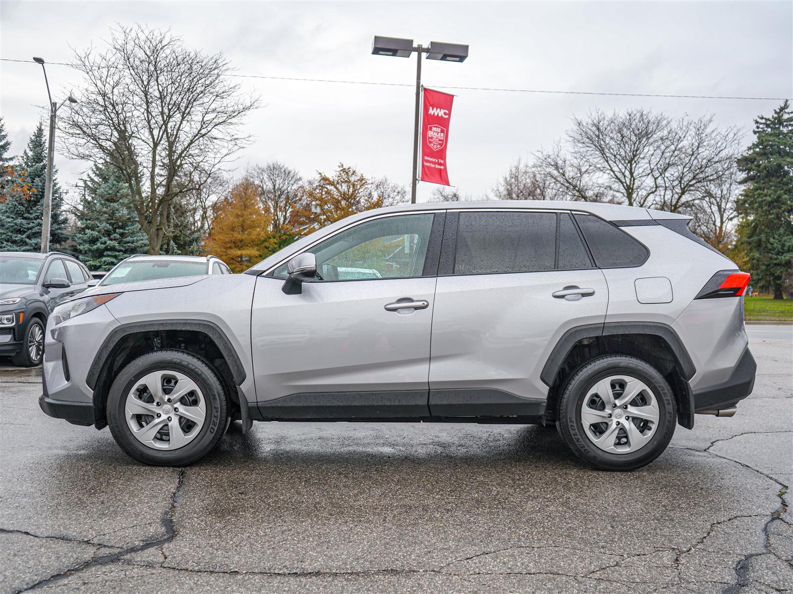
[[[421,181],[449,184],[446,144],[449,139],[451,102],[454,95],[424,89],[421,120]]]

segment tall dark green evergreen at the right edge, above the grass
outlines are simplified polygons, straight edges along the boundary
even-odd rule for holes
[[[745,185],[737,200],[753,284],[783,299],[793,267],[793,112],[785,101],[754,120],[755,141],[738,159]]]

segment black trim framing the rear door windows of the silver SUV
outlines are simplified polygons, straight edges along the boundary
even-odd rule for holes
[[[559,259],[559,230],[561,226],[560,217],[561,215],[568,215],[570,220],[573,222],[573,227],[575,227],[578,237],[581,240],[581,243],[584,244],[584,249],[587,252],[587,256],[589,258],[589,267],[588,268],[553,268],[551,270],[533,270],[533,271],[524,271],[524,272],[472,272],[469,274],[455,274],[454,273],[454,265],[457,261],[457,234],[458,234],[458,223],[459,223],[459,215],[465,212],[536,212],[536,213],[555,213],[556,214],[556,254],[554,256],[554,265],[558,266],[558,259]],[[586,240],[584,240],[583,234],[581,234],[581,230],[578,228],[576,223],[576,218],[573,216],[573,213],[581,213],[584,215],[591,215],[591,212],[587,211],[573,211],[573,210],[565,210],[561,208],[458,208],[454,210],[447,211],[446,214],[446,229],[444,230],[443,234],[443,244],[441,250],[441,260],[438,270],[438,276],[488,276],[488,275],[496,275],[496,274],[538,274],[541,272],[577,272],[582,270],[600,270],[595,265],[595,259],[592,257],[592,253],[589,251],[589,246],[587,245]],[[456,215],[456,216],[450,216]],[[598,217],[600,219],[600,217]],[[603,219],[605,220],[605,219]],[[638,241],[638,239],[636,240]],[[644,244],[642,244],[644,245]],[[649,253],[649,250],[648,250]]]

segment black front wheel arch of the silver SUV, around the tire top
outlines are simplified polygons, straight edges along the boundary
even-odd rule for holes
[[[214,367],[224,379],[232,402],[239,405],[243,427],[249,425],[247,400],[242,390],[238,390],[247,374],[224,331],[203,320],[167,320],[117,326],[98,348],[86,375],[86,385],[94,390],[96,428],[107,426],[107,395],[118,372],[147,352],[167,348],[190,352]]]

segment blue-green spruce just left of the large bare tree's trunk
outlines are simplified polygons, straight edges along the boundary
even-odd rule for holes
[[[140,228],[121,173],[104,163],[86,179],[86,193],[75,209],[72,251],[91,270],[109,270],[133,253],[146,253],[148,238]]]

